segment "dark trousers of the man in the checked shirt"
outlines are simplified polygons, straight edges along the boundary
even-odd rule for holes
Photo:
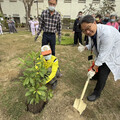
[[[42,37],[42,46],[50,44],[52,55],[55,56],[56,35],[55,33],[44,32]]]

